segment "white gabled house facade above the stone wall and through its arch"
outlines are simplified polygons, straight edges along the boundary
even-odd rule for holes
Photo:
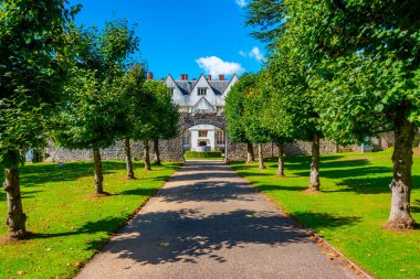
[[[175,81],[171,75],[165,79],[165,84],[172,93],[172,100],[179,105],[180,112],[187,114],[222,114],[224,98],[232,86],[238,82],[233,75],[230,81],[224,81],[223,75],[212,79],[209,75],[200,75],[198,79],[188,79],[187,75]],[[198,125],[183,131],[183,150],[213,151],[224,150],[224,131],[212,125]]]

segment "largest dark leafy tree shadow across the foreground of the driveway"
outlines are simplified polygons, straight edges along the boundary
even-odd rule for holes
[[[332,218],[330,226],[356,222],[348,217]],[[212,215],[195,210],[147,213],[123,233],[103,253],[143,265],[196,264],[201,257],[223,262],[227,259],[218,254],[222,249],[243,248],[248,244],[282,246],[312,242],[290,218],[249,210]]]

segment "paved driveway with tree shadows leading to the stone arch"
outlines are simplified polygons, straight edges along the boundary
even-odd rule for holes
[[[217,161],[188,162],[77,278],[357,278]]]

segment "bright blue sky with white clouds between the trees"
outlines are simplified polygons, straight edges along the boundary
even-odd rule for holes
[[[186,73],[258,72],[264,45],[244,26],[245,0],[71,0],[82,3],[77,22],[103,26],[126,18],[137,23],[140,55],[155,78]]]

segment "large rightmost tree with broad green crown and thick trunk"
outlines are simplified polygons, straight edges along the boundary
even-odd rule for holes
[[[311,25],[302,36],[311,51],[319,53],[312,66],[311,86],[324,93],[318,97],[325,131],[342,143],[378,132],[395,133],[388,227],[412,228],[412,143],[420,124],[420,6],[413,0],[334,1],[312,3],[311,11],[296,22]]]

